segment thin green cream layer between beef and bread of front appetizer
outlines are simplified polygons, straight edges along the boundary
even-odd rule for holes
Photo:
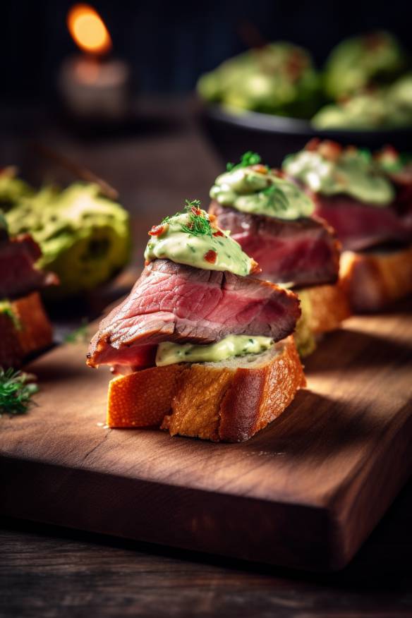
[[[232,356],[260,354],[272,346],[270,337],[249,337],[248,335],[229,335],[216,344],[193,345],[173,344],[164,341],[157,346],[156,365],[173,365],[174,363],[217,363]]]

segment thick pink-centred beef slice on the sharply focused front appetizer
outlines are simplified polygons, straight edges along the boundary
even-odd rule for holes
[[[266,281],[155,260],[102,320],[87,362],[145,365],[161,341],[209,344],[228,334],[279,341],[299,315],[296,296]]]

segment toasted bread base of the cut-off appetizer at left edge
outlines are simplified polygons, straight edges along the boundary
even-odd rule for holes
[[[53,330],[38,292],[10,301],[0,313],[0,365],[20,367],[30,353],[52,344]]]

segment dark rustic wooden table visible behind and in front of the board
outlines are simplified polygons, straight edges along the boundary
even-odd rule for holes
[[[189,110],[178,100],[143,101],[126,130],[78,135],[44,110],[4,108],[0,165],[16,163],[32,181],[70,181],[34,154],[41,142],[119,188],[137,271],[148,227],[185,198],[206,201],[222,166]],[[56,314],[59,332],[78,320],[71,313]],[[0,617],[412,617],[411,521],[409,483],[349,567],[313,575],[0,519]]]

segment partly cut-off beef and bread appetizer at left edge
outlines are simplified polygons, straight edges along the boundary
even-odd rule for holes
[[[52,344],[39,290],[57,283],[35,266],[42,255],[28,234],[10,238],[0,219],[0,366],[20,367],[30,353]]]

